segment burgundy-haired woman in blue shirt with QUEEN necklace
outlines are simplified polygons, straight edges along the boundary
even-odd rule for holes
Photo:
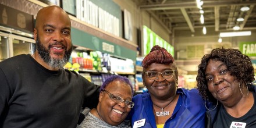
[[[148,91],[133,97],[128,116],[133,127],[205,127],[206,110],[198,90],[177,88],[177,67],[165,48],[155,45],[142,66]]]

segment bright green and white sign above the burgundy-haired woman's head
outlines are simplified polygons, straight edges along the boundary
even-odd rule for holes
[[[154,45],[159,45],[160,47],[165,48],[172,56],[174,56],[174,48],[172,45],[155,34],[147,26],[143,26],[143,54],[147,55],[150,53],[150,50]]]

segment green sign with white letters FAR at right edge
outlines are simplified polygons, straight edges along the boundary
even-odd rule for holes
[[[240,42],[239,50],[248,56],[256,56],[256,42]]]

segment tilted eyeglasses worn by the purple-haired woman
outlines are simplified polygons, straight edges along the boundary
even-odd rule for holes
[[[133,108],[134,102],[124,100],[122,97],[119,97],[118,95],[111,94],[106,90],[103,90],[103,91],[105,91],[108,94],[109,98],[111,98],[112,101],[115,101],[118,104],[121,102],[125,102],[125,106],[127,106],[128,108]]]

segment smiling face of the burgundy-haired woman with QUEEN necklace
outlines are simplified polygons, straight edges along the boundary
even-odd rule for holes
[[[156,71],[163,72],[165,70],[176,70],[172,64],[163,65],[159,63],[152,63],[144,72]],[[176,85],[176,74],[170,79],[164,79],[161,74],[159,74],[158,79],[150,80],[146,73],[143,74],[143,83],[147,87],[152,98],[169,98],[176,95],[177,85]]]

